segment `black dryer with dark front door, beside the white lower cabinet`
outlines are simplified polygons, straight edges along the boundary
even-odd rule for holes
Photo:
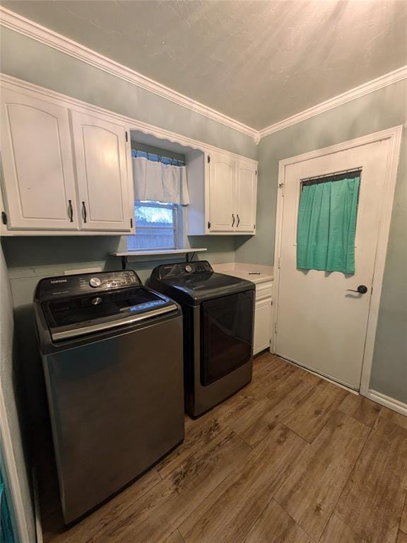
[[[252,281],[199,261],[158,266],[148,285],[182,307],[187,413],[203,414],[252,380]]]

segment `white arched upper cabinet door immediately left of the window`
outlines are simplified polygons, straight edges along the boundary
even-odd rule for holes
[[[81,228],[131,230],[124,126],[72,111]]]

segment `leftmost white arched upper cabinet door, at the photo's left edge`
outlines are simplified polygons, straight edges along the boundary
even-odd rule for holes
[[[1,160],[9,229],[77,230],[66,107],[2,88]]]

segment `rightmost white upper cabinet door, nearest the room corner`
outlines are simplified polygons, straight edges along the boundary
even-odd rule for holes
[[[256,165],[244,160],[236,163],[237,232],[254,232],[256,228]]]

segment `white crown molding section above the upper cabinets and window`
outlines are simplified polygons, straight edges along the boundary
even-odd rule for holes
[[[69,54],[71,57],[81,60],[86,64],[95,66],[98,69],[106,71],[108,74],[112,74],[116,77],[124,79],[139,88],[143,88],[146,91],[150,91],[161,98],[171,100],[171,102],[187,107],[187,109],[204,115],[208,119],[213,121],[220,122],[226,127],[237,130],[246,136],[251,136],[255,138],[257,130],[251,127],[247,127],[246,124],[236,121],[227,115],[223,115],[216,110],[213,110],[211,107],[208,107],[204,104],[196,102],[187,96],[174,91],[172,88],[168,88],[158,81],[154,81],[151,78],[139,74],[137,71],[134,71],[119,62],[115,62],[112,59],[104,57],[102,54],[88,49],[84,45],[79,44],[70,40],[69,37],[63,36],[45,28],[34,21],[30,21],[23,16],[20,16],[18,13],[14,13],[2,6],[0,6],[0,25],[10,28],[20,34],[31,37],[38,42],[41,42],[49,47],[53,47],[65,54]]]

